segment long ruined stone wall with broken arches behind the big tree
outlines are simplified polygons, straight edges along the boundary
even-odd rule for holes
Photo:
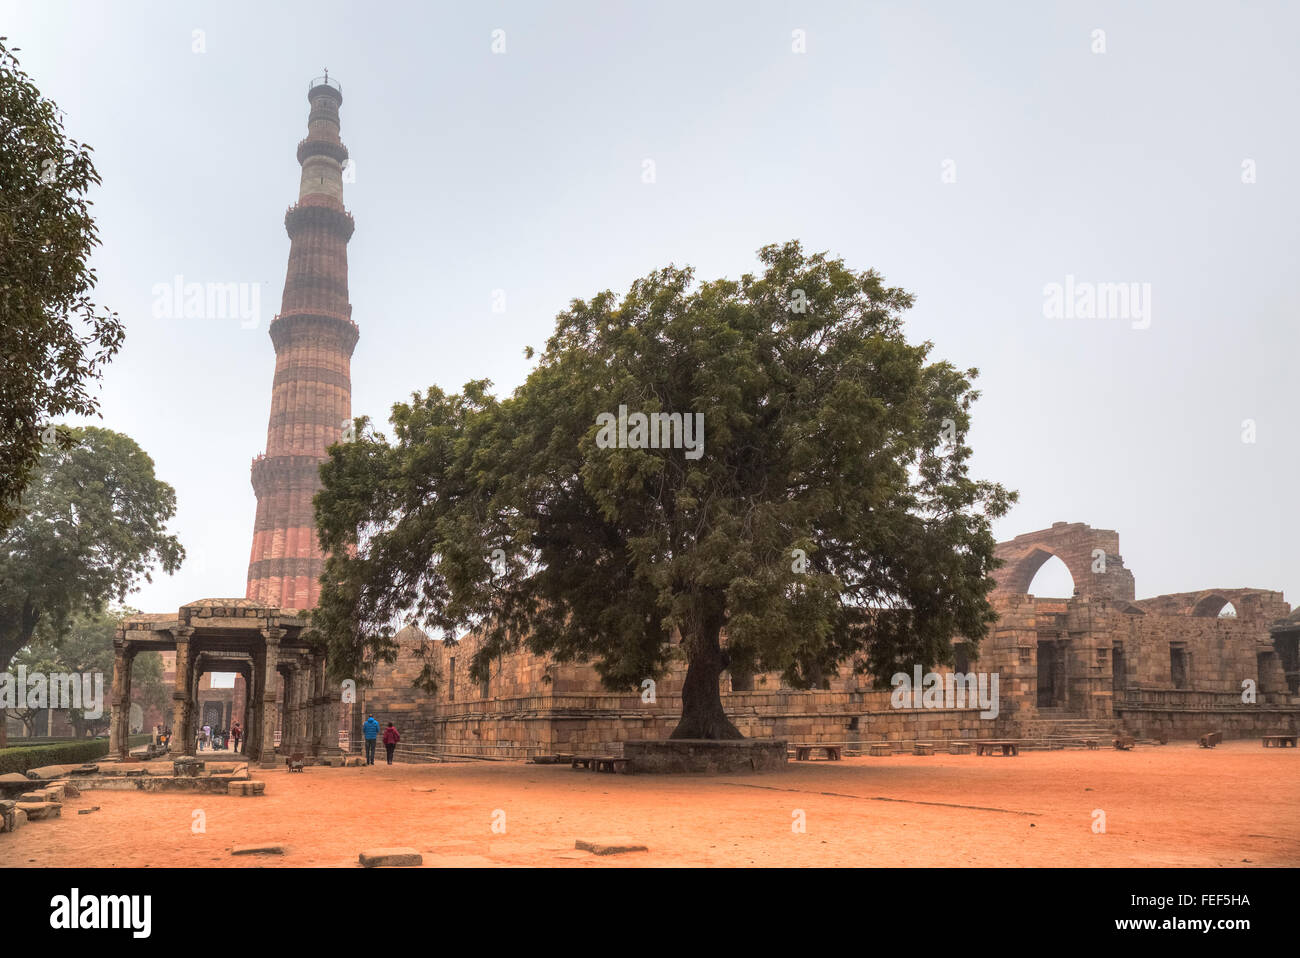
[[[750,692],[732,692],[724,672],[727,714],[748,737],[842,742],[850,749],[879,741],[1032,738],[1045,720],[1039,711],[1041,642],[1061,649],[1063,714],[1088,719],[1098,729],[1123,725],[1141,737],[1171,738],[1219,729],[1231,738],[1287,728],[1300,715],[1300,695],[1287,694],[1269,636],[1269,625],[1290,612],[1280,593],[1228,589],[1135,599],[1118,534],[1082,523],[1056,523],[1018,536],[1000,543],[997,554],[1005,563],[994,573],[991,595],[998,619],[967,666],[998,673],[996,720],[980,719],[976,708],[894,710],[889,692],[871,688],[852,667],[818,692],[783,688],[776,673],[754,676]],[[1053,555],[1074,576],[1075,595],[1028,594],[1034,575]],[[1219,598],[1232,603],[1236,617],[1218,617]],[[361,701],[365,714],[396,724],[403,742],[494,758],[616,751],[628,740],[667,738],[680,718],[684,662],[658,681],[655,702],[647,703],[636,693],[603,689],[589,666],[559,664],[526,651],[494,663],[484,689],[469,677],[473,637],[446,646],[407,629],[400,641],[398,662],[377,669],[376,684],[361,692]],[[1174,688],[1171,645],[1186,650],[1186,688]],[[442,676],[432,697],[411,688],[422,666],[415,651],[421,646]],[[1118,682],[1117,649],[1124,664]],[[1256,682],[1253,705],[1242,702],[1247,679]]]

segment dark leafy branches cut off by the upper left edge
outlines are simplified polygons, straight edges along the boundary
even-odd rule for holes
[[[99,244],[86,195],[100,182],[90,147],[64,133],[58,108],[0,36],[0,529],[43,445],[70,442],[51,420],[92,416],[88,386],[122,343],[122,325],[91,302]]]

